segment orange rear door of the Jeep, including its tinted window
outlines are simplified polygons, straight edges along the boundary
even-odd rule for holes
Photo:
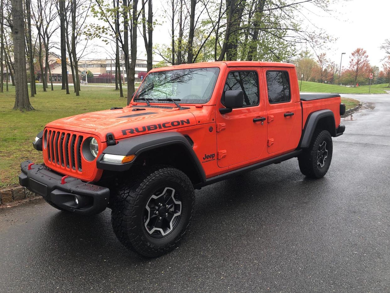
[[[263,68],[267,83],[268,154],[293,150],[300,139],[295,130],[301,130],[301,107],[291,96],[290,72],[289,68]]]

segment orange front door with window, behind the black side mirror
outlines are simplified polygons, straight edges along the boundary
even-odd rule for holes
[[[217,102],[217,161],[223,168],[256,159],[266,147],[266,109],[264,99],[260,99],[259,69],[230,68],[225,75],[222,98]],[[223,97],[227,90],[242,90],[244,106],[232,112],[221,114]],[[234,166],[232,167],[234,168]]]

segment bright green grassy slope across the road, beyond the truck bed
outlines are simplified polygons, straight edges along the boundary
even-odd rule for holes
[[[301,85],[301,82],[298,82]],[[377,86],[377,85],[376,85]],[[387,85],[386,85],[387,86]],[[356,88],[339,86],[337,84],[321,84],[319,82],[302,81],[301,91],[312,93],[340,93],[340,94],[357,94],[368,93],[369,86],[359,86]],[[371,86],[371,93],[386,93],[380,87]]]

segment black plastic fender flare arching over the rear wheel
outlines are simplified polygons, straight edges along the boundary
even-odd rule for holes
[[[326,117],[331,117],[330,119],[331,125],[330,125],[330,135],[333,137],[336,136],[336,123],[335,123],[335,115],[333,112],[329,109],[326,110],[319,110],[313,113],[310,113],[306,123],[305,127],[302,130],[302,136],[301,136],[301,141],[298,145],[298,148],[308,148],[310,145],[310,141],[312,140],[314,131],[316,130],[318,121],[321,120],[322,118]]]

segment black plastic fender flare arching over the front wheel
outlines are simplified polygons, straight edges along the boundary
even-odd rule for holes
[[[159,132],[121,139],[116,145],[108,146],[105,150],[103,150],[103,153],[97,158],[96,166],[99,169],[109,171],[127,171],[131,168],[134,161],[124,164],[104,162],[103,156],[105,154],[136,155],[137,159],[137,157],[143,152],[167,145],[181,145],[184,147],[184,149],[188,152],[188,157],[191,163],[193,163],[200,180],[202,182],[206,181],[206,173],[204,172],[198,157],[196,156],[190,143],[188,143],[188,140],[179,132]]]

